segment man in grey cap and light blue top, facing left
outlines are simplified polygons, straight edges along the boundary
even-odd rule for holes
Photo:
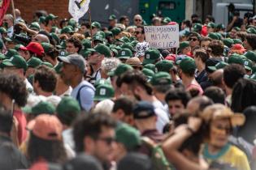
[[[61,77],[73,88],[71,96],[79,102],[82,110],[88,112],[93,107],[95,88],[84,79],[85,59],[79,54],[71,54],[59,57],[59,60],[63,62]]]

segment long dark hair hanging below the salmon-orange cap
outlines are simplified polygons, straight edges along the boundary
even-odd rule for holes
[[[45,140],[31,133],[28,141],[28,159],[33,164],[41,158],[51,163],[64,163],[67,154],[63,141]]]

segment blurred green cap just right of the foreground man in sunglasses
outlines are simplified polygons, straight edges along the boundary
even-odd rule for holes
[[[122,143],[126,150],[132,151],[141,146],[141,134],[131,125],[122,123],[115,130],[116,142]]]

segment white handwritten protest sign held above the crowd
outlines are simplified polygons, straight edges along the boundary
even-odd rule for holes
[[[145,41],[154,49],[179,47],[179,25],[145,26]]]

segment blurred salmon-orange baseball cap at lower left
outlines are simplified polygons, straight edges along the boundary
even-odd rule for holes
[[[29,121],[27,128],[38,138],[62,140],[63,125],[54,115],[41,114],[33,121]]]

